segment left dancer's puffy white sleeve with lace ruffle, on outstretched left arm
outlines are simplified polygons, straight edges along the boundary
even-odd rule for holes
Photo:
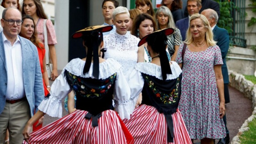
[[[71,91],[66,78],[64,77],[64,70],[52,83],[50,97],[45,98],[38,109],[51,117],[62,117],[62,98],[66,97]]]

